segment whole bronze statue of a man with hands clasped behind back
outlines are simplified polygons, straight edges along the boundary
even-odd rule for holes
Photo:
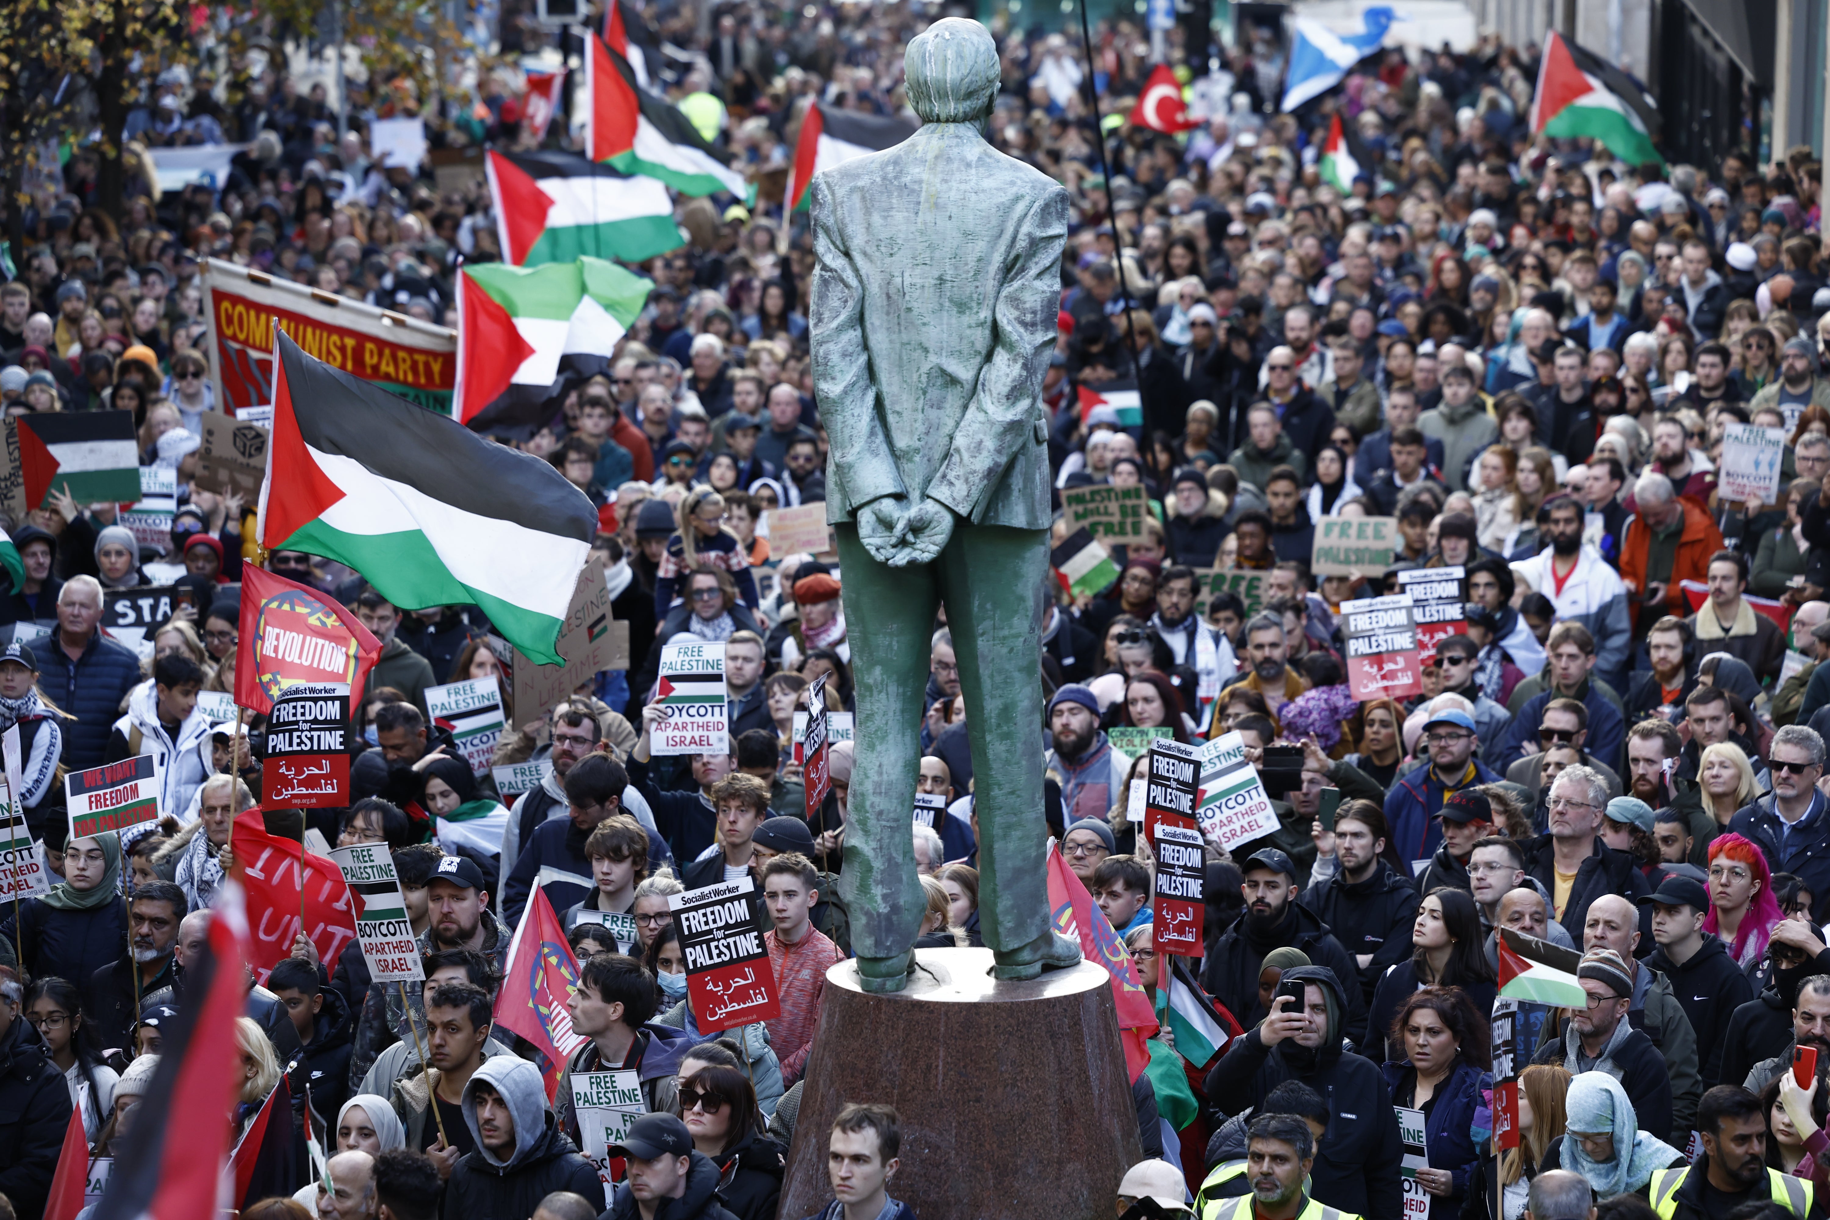
[[[873,991],[904,986],[926,911],[911,825],[939,605],[966,697],[996,975],[1080,960],[1049,920],[1036,602],[1067,190],[985,141],[999,62],[983,26],[935,22],[902,62],[924,126],[813,179],[813,375],[856,688],[840,893]]]

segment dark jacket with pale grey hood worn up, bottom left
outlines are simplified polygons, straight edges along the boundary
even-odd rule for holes
[[[501,1094],[514,1118],[514,1152],[507,1160],[483,1147],[483,1130],[476,1121],[478,1085]],[[540,1068],[525,1059],[496,1055],[483,1063],[465,1081],[463,1121],[476,1150],[461,1156],[452,1169],[439,1213],[447,1220],[523,1220],[554,1191],[602,1198],[597,1169],[578,1156],[578,1149],[547,1112]]]

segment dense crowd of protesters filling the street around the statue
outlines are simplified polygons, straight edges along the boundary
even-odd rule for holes
[[[326,1160],[300,1158],[295,1194],[238,1200],[242,1215],[776,1218],[825,973],[851,955],[836,882],[855,865],[856,746],[834,719],[833,794],[809,816],[796,717],[820,677],[827,710],[849,712],[853,649],[871,647],[847,635],[834,554],[769,538],[770,514],[822,503],[827,477],[813,241],[783,185],[809,106],[910,113],[902,48],[926,7],[619,5],[651,88],[758,190],[681,198],[683,245],[639,263],[655,287],[608,373],[496,437],[598,507],[593,560],[630,626],[628,666],[554,706],[512,704],[476,605],[401,609],[339,563],[264,554],[254,505],[194,483],[199,421],[221,410],[199,265],[456,326],[458,267],[500,256],[498,203],[432,161],[384,166],[371,124],[417,115],[434,150],[576,150],[576,99],[542,132],[509,60],[479,60],[474,97],[375,73],[350,82],[339,135],[324,86],[282,59],[205,53],[156,75],[143,60],[119,203],[86,143],[0,201],[24,210],[0,285],[5,413],[132,410],[141,465],[178,488],[168,538],[68,490],[5,519],[22,567],[0,598],[0,724],[20,730],[15,797],[53,885],[0,909],[0,1216],[44,1215],[73,1114],[112,1158],[145,1101],[260,790],[262,721],[242,739],[199,693],[234,690],[240,578],[264,565],[382,644],[355,708],[351,805],[265,825],[386,845],[426,980],[371,984],[359,946],[331,973],[300,938],[251,986],[231,1121],[245,1129],[284,1077]],[[1103,587],[1054,573],[1038,589],[1036,832],[1160,1011],[1193,995],[1219,1032],[1190,1046],[1166,1015],[1151,1037],[1118,1213],[1823,1215],[1819,154],[1631,166],[1535,135],[1539,48],[1495,38],[1387,49],[1283,113],[1286,51],[1250,24],[1211,59],[1175,31],[1193,119],[1166,134],[1125,121],[1151,70],[1129,18],[1100,22],[1083,55],[1010,9],[985,137],[1071,199],[1038,404],[1052,541],[1076,534],[1080,488],[1140,488],[1140,527],[1100,540]],[[554,38],[501,15],[505,53]],[[1321,157],[1336,121],[1365,152],[1351,181]],[[157,150],[220,141],[247,143],[223,181],[157,192]],[[1771,494],[1722,492],[1729,466],[1748,477],[1742,424],[1782,437]],[[1391,565],[1314,573],[1329,518],[1391,518]],[[1435,646],[1420,693],[1354,699],[1341,605],[1413,569],[1459,571],[1466,627]],[[167,585],[185,593],[145,640],[104,626],[110,593]],[[728,752],[653,748],[659,646],[679,637],[725,646]],[[919,792],[941,797],[911,825],[919,947],[975,946],[974,752],[944,613],[930,668],[906,726]],[[496,680],[507,710],[490,763],[551,763],[533,790],[498,788],[434,719],[426,688],[470,679]],[[1208,843],[1195,958],[1153,944],[1157,861],[1127,808],[1144,755],[1120,728],[1237,733],[1272,797],[1274,832]],[[1297,746],[1299,770],[1266,766],[1272,746]],[[139,754],[159,759],[161,819],[70,838],[62,777]],[[739,876],[781,1013],[708,1035],[668,898]],[[640,1079],[646,1114],[608,1147],[584,1147],[565,1081],[549,1103],[529,1046],[492,1021],[536,889],[580,973],[567,1010],[586,1044],[564,1077]],[[1519,1002],[1510,1046],[1491,1043],[1502,929],[1568,949],[1588,1001]],[[1517,1147],[1495,1149],[1495,1072],[1517,1094]],[[1028,1086],[1047,1105],[1047,1081]],[[825,1147],[820,1216],[913,1216],[895,1198],[902,1116],[849,1101],[805,1136]],[[611,1189],[593,1161],[615,1167]]]

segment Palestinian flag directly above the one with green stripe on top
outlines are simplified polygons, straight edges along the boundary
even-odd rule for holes
[[[569,263],[580,254],[639,263],[683,245],[673,199],[653,177],[571,152],[490,150],[483,166],[501,260],[516,267]]]

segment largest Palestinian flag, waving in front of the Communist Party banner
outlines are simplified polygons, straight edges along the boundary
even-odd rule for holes
[[[401,609],[476,604],[538,664],[597,534],[551,465],[357,380],[274,331],[260,541],[348,563]]]

